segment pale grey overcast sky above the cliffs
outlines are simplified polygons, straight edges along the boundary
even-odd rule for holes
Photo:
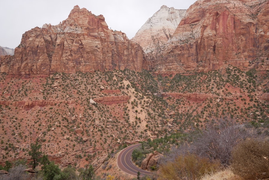
[[[162,5],[188,9],[196,0],[3,0],[0,6],[0,46],[16,48],[22,34],[45,23],[58,25],[75,5],[105,17],[108,28],[131,39]]]

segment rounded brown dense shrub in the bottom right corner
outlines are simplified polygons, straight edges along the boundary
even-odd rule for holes
[[[232,151],[231,169],[244,179],[269,178],[269,141],[248,139]]]

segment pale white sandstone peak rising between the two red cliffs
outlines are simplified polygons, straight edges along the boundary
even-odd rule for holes
[[[147,54],[157,51],[156,48],[163,48],[185,13],[186,10],[161,6],[160,10],[137,31],[132,41],[138,43]]]

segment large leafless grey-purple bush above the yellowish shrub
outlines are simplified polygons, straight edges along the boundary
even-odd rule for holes
[[[201,135],[196,135],[191,151],[211,160],[219,159],[221,164],[227,166],[231,162],[233,147],[248,136],[250,133],[233,120],[220,119],[207,126]]]

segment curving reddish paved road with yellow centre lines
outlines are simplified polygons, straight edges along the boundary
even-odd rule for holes
[[[124,173],[127,173],[132,176],[137,176],[138,171],[140,172],[140,177],[150,176],[153,174],[152,172],[145,171],[136,167],[131,160],[132,152],[138,146],[141,146],[141,144],[134,144],[123,149],[117,157],[117,166]]]

